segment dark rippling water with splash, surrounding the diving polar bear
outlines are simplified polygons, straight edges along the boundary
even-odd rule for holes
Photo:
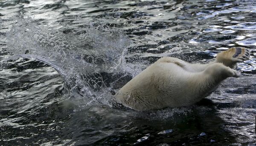
[[[254,0],[0,1],[0,145],[256,145]],[[112,100],[163,56],[250,60],[197,105],[136,112]],[[14,55],[13,55],[14,54]]]

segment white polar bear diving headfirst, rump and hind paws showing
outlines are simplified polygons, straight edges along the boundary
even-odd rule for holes
[[[232,68],[249,57],[250,50],[241,47],[218,53],[208,64],[162,57],[125,84],[115,98],[137,111],[189,106],[211,94],[227,77],[239,77]]]

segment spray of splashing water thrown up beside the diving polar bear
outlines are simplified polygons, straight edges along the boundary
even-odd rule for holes
[[[91,24],[84,31],[65,34],[31,17],[14,17],[6,34],[7,50],[54,67],[64,78],[72,96],[87,103],[107,103],[109,89],[102,73],[126,72],[125,54],[131,40],[122,31]]]

